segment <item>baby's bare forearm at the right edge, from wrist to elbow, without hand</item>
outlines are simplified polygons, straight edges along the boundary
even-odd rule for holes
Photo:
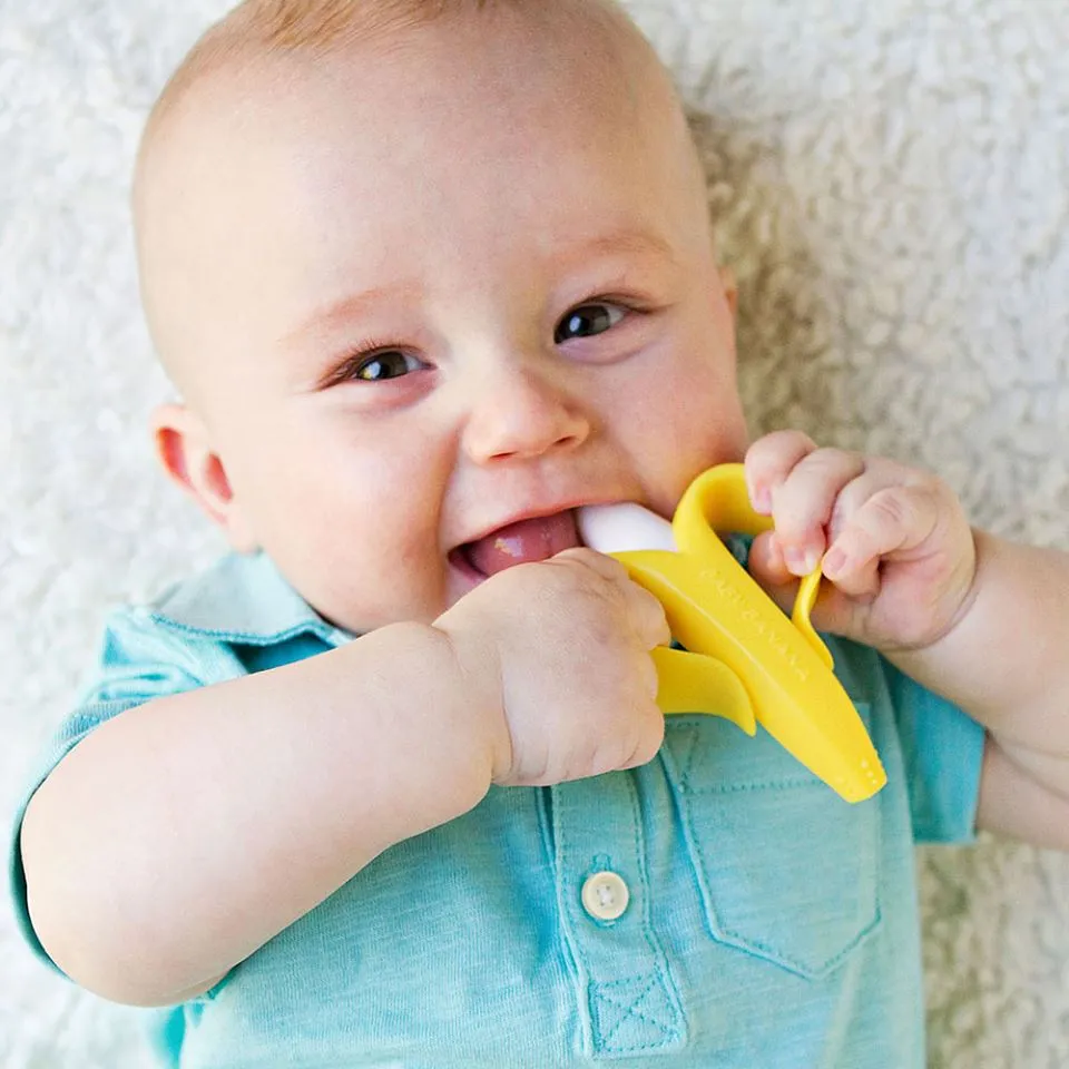
[[[942,639],[889,656],[1008,752],[1040,755],[1030,771],[1069,791],[1069,555],[977,532],[973,590]]]

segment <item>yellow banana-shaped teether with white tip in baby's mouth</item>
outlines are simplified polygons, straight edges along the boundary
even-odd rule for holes
[[[631,521],[622,537],[621,517]],[[726,716],[748,734],[759,723],[846,801],[875,794],[886,774],[810,621],[820,570],[802,581],[788,620],[717,534],[772,527],[749,506],[742,464],[699,475],[679,502],[670,538],[666,527],[638,506],[580,510],[583,541],[620,560],[657,597],[686,647],[654,651],[660,707]]]

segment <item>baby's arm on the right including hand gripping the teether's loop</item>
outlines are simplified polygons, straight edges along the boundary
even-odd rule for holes
[[[815,625],[988,728],[980,826],[1069,850],[1069,555],[973,531],[934,475],[795,431],[755,442],[746,473],[775,521],[754,543],[757,578],[787,605],[823,555]]]

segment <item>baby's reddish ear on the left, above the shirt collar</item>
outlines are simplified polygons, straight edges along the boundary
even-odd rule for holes
[[[151,415],[151,431],[164,471],[213,523],[223,528],[234,549],[239,553],[254,552],[257,541],[200,416],[183,404],[163,404]]]

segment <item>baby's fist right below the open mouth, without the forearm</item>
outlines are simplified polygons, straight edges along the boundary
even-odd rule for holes
[[[493,782],[546,785],[632,768],[664,737],[649,651],[660,604],[589,549],[498,572],[437,621],[484,713]]]

